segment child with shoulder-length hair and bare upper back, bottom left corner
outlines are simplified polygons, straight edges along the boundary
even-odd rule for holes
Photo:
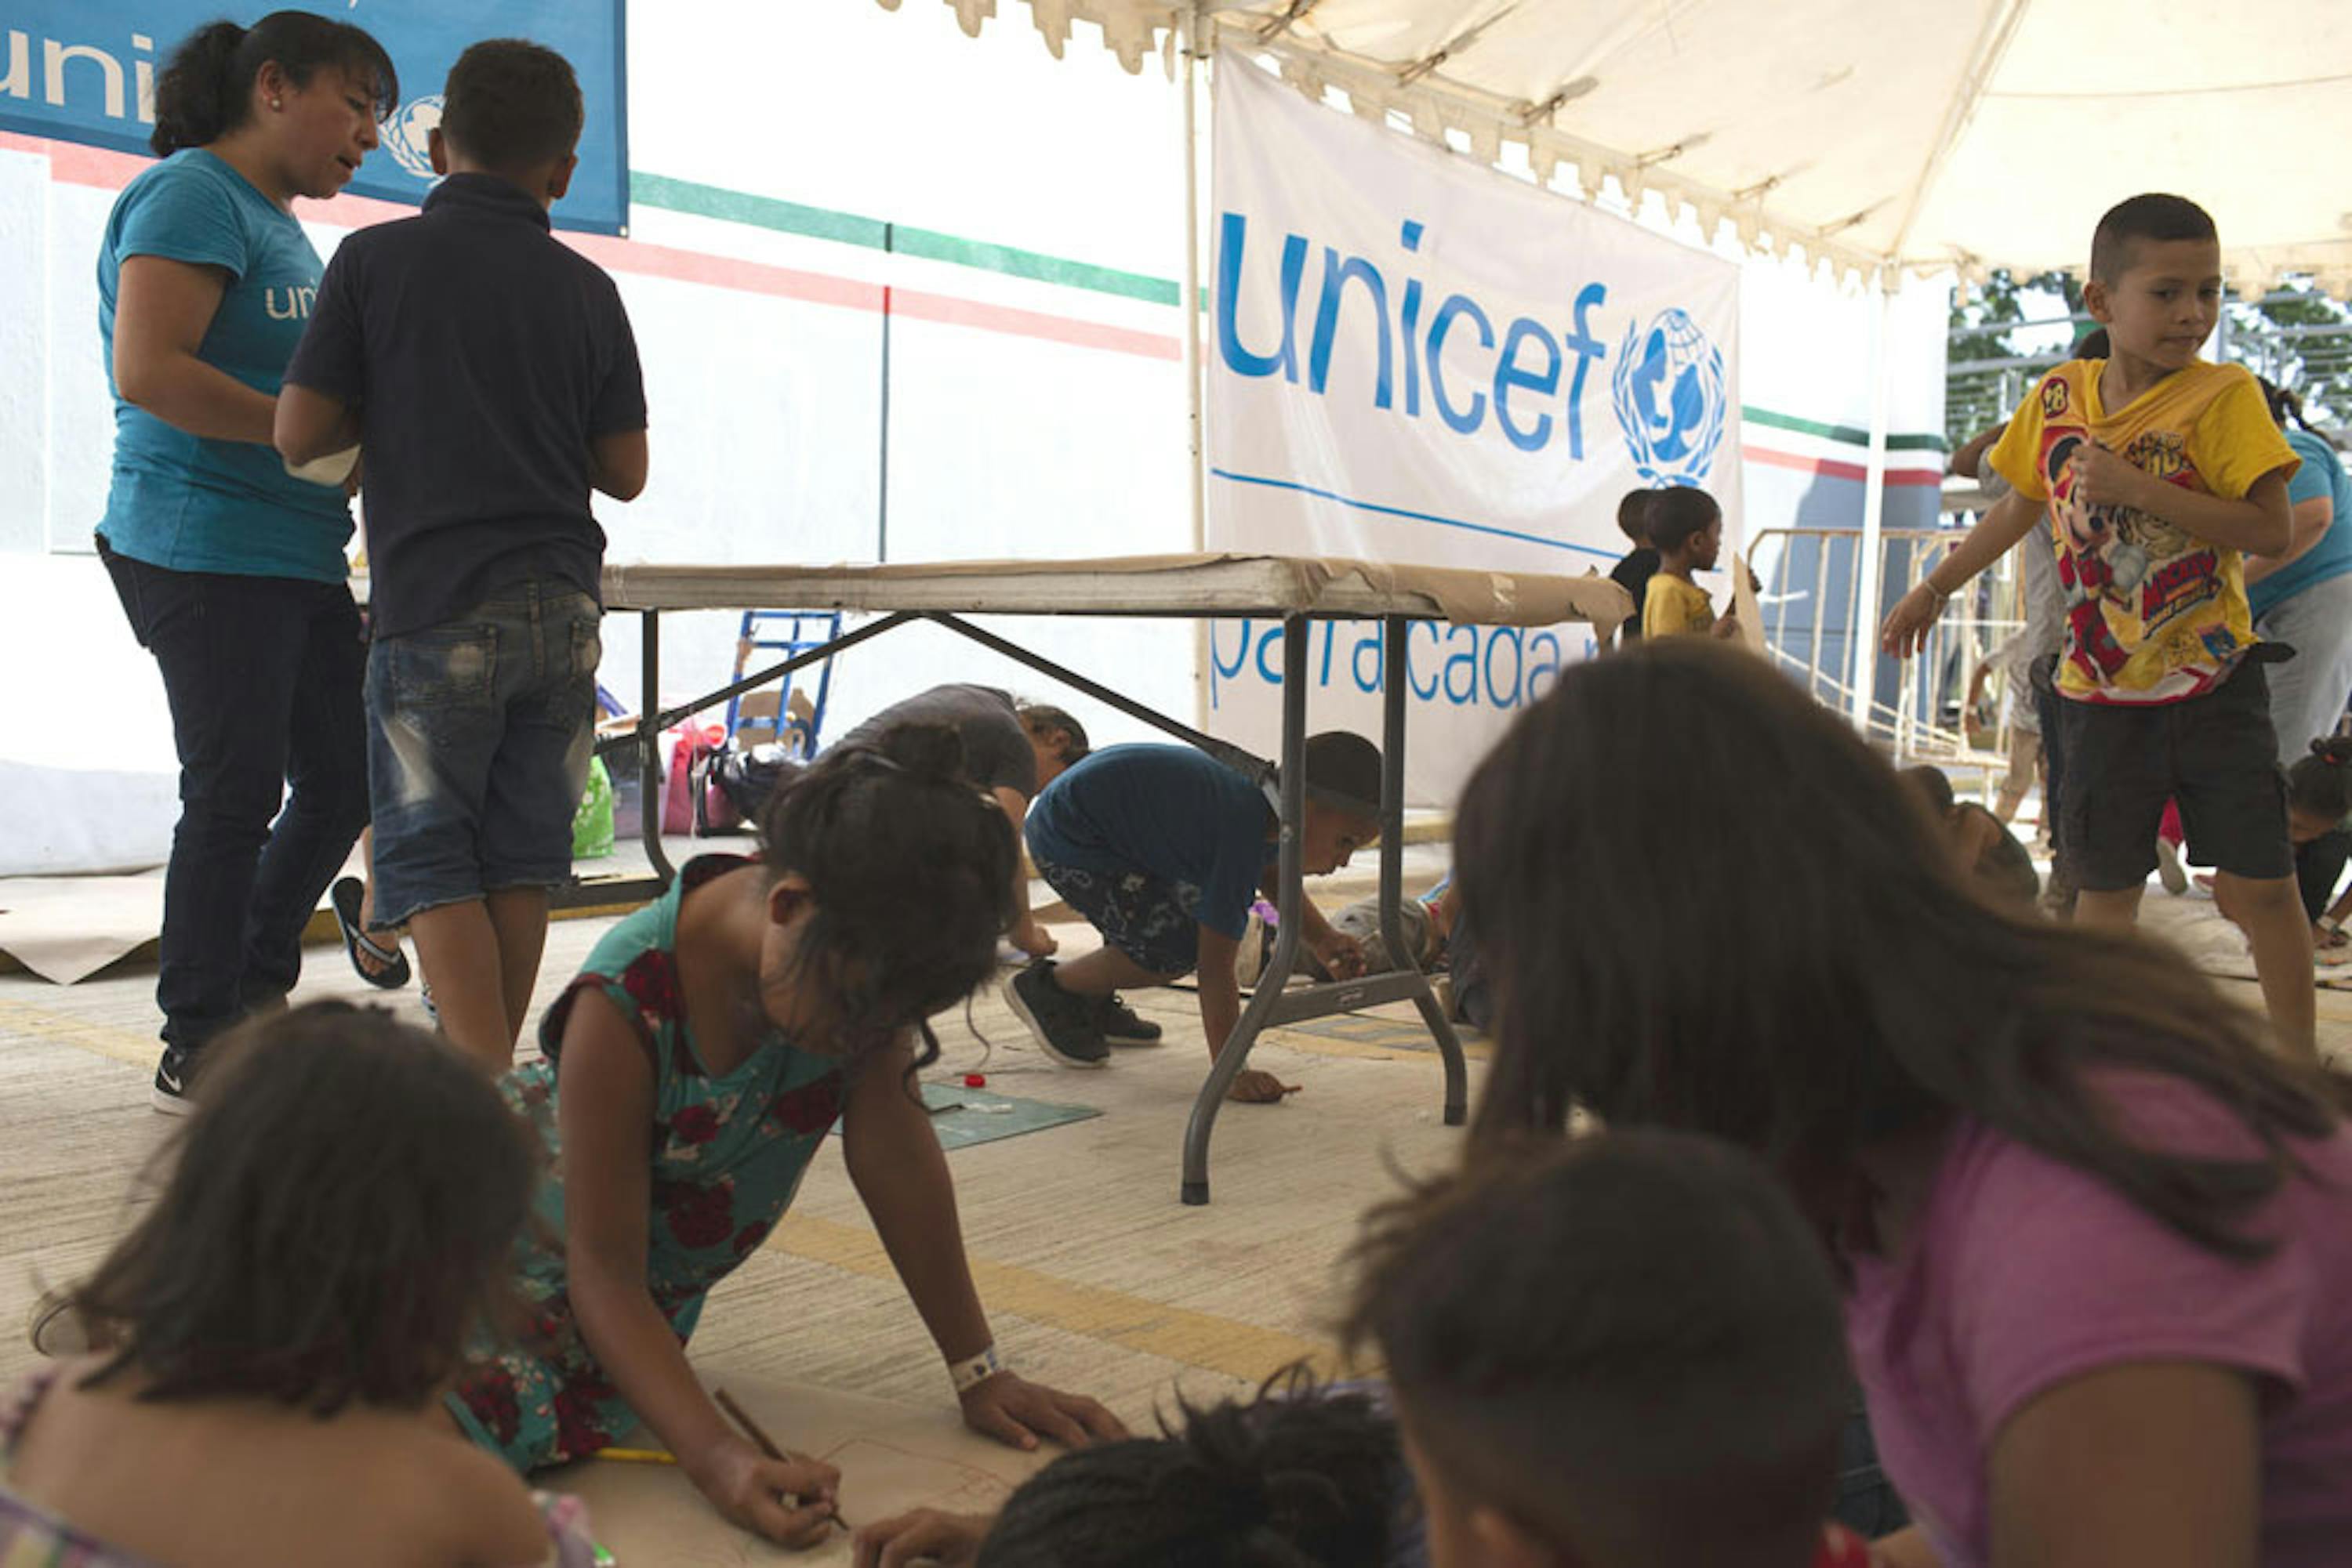
[[[560,1563],[440,1408],[506,1305],[536,1157],[482,1074],[322,1001],[223,1037],[162,1199],[0,1406],[0,1563]],[[101,1544],[103,1542],[103,1544]]]

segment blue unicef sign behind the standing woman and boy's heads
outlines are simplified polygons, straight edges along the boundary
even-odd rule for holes
[[[0,12],[0,129],[146,153],[155,75],[181,38],[228,16],[254,21],[266,0],[223,9],[195,0],[35,0]],[[367,28],[400,68],[402,103],[348,190],[416,205],[433,188],[426,134],[440,87],[466,45],[529,38],[562,52],[581,78],[588,127],[572,193],[555,223],[593,233],[628,226],[628,82],[623,0],[348,0],[313,7]]]

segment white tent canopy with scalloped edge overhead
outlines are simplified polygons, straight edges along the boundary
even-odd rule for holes
[[[997,9],[948,5],[967,31]],[[1030,0],[1056,54],[1084,19],[1129,71],[1174,54],[1181,9]],[[2345,0],[1202,0],[1197,33],[1762,249],[2074,268],[2107,205],[2178,190],[2213,212],[2239,289],[2293,270],[2352,296]]]

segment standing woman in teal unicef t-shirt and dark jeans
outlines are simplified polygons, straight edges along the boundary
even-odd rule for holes
[[[186,1107],[207,1039],[294,987],[301,929],[367,825],[350,508],[285,470],[270,421],[320,280],[294,197],[336,195],[397,94],[355,26],[216,21],[155,82],[162,162],[106,219],[99,555],[162,668],[181,769],[158,1110]]]

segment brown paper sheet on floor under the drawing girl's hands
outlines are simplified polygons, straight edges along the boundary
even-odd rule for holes
[[[790,1453],[840,1467],[842,1519],[870,1523],[906,1509],[993,1514],[1051,1453],[1021,1453],[969,1432],[955,1401],[898,1406],[790,1382],[729,1380],[750,1418]],[[628,1439],[652,1446],[647,1434]],[[717,1516],[682,1469],[668,1465],[567,1465],[534,1486],[588,1505],[597,1542],[621,1568],[734,1568],[736,1563],[849,1561],[849,1533],[809,1552],[771,1547]]]

